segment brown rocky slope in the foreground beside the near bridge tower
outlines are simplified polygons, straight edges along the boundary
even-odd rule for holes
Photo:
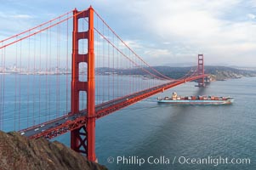
[[[19,133],[0,131],[0,170],[103,170],[100,164],[57,141],[27,139]]]

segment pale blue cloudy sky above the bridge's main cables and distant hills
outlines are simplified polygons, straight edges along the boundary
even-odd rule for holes
[[[94,10],[150,65],[256,67],[256,0],[0,0],[0,39]]]

